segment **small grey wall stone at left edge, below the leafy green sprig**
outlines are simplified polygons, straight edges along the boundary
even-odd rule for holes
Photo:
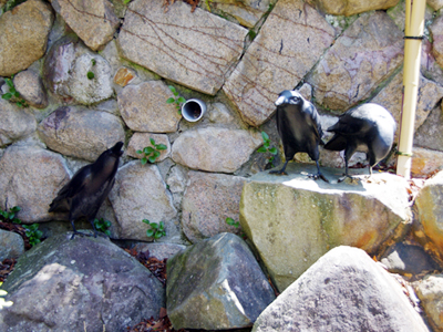
[[[27,137],[35,129],[35,117],[29,110],[0,98],[0,146]]]

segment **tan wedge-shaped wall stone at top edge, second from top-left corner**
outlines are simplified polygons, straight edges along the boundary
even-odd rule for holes
[[[93,51],[112,40],[120,23],[107,0],[51,0],[51,4]]]

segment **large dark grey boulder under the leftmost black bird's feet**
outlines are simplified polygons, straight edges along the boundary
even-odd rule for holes
[[[18,261],[2,289],[1,331],[123,331],[158,319],[164,289],[109,239],[51,237]]]

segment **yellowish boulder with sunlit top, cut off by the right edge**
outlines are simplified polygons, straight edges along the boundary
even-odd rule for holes
[[[427,179],[414,201],[416,222],[414,235],[419,242],[443,262],[443,172]]]

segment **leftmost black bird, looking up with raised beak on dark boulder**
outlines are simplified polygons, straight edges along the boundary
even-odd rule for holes
[[[116,143],[103,152],[94,163],[80,168],[50,204],[50,212],[69,211],[69,220],[74,230],[71,240],[78,234],[85,235],[74,226],[74,221],[80,217],[87,218],[96,237],[95,215],[114,185],[119,159],[123,154],[122,146],[122,142]]]

